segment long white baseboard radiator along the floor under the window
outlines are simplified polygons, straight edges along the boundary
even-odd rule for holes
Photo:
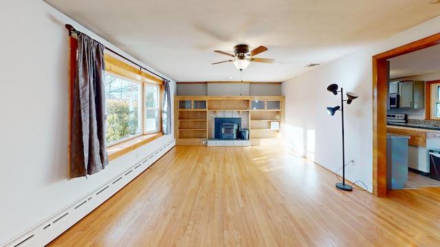
[[[100,204],[105,202],[125,185],[135,179],[148,167],[153,165],[160,157],[175,146],[175,139],[166,143],[161,148],[148,154],[141,161],[135,163],[129,169],[115,176],[109,182],[104,183],[101,187],[89,193],[89,195],[77,200],[62,211],[52,215],[52,217],[43,221],[41,224],[30,228],[25,233],[15,237],[14,239],[0,244],[5,247],[35,247],[45,246],[53,239],[61,235],[68,228],[80,221],[85,215],[96,209]]]

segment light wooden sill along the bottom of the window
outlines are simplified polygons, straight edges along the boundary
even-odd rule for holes
[[[162,133],[154,133],[154,134],[144,134],[141,137],[133,138],[129,141],[124,141],[123,143],[118,143],[116,145],[112,145],[107,148],[107,155],[109,156],[109,161],[112,161],[115,158],[118,158],[124,154],[127,154],[136,148],[139,148],[146,143],[154,141],[155,139],[162,137]]]

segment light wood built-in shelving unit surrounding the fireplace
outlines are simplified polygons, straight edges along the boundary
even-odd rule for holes
[[[204,145],[214,139],[216,117],[241,117],[241,127],[249,129],[251,145],[259,145],[262,139],[279,137],[284,97],[175,96],[176,145]]]

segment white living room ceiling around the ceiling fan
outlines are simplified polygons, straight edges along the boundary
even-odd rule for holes
[[[275,59],[243,80],[282,82],[440,14],[430,0],[44,1],[176,82],[241,80],[232,62],[211,64],[239,44]]]

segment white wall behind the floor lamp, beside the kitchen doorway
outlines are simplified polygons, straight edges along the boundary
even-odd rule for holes
[[[373,180],[373,86],[372,56],[440,32],[440,17],[431,19],[380,43],[365,47],[283,82],[285,101],[285,138],[293,150],[309,156],[316,163],[336,171],[342,167],[341,113],[333,117],[327,106],[340,105],[340,94],[327,91],[336,83],[344,92],[360,97],[344,105],[346,178],[362,180],[372,191]],[[344,99],[346,96],[344,95]]]

